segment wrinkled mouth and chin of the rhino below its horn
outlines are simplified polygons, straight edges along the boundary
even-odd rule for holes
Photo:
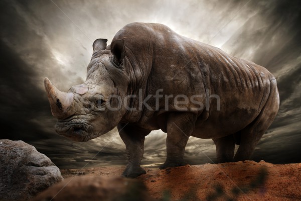
[[[55,131],[67,138],[74,141],[87,141],[89,126],[86,122],[71,121],[57,121],[55,125]]]

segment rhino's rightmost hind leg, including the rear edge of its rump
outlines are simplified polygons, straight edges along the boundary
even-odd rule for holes
[[[270,81],[270,93],[257,118],[240,131],[240,145],[234,161],[249,160],[256,144],[271,125],[279,109],[279,94],[276,80]]]

